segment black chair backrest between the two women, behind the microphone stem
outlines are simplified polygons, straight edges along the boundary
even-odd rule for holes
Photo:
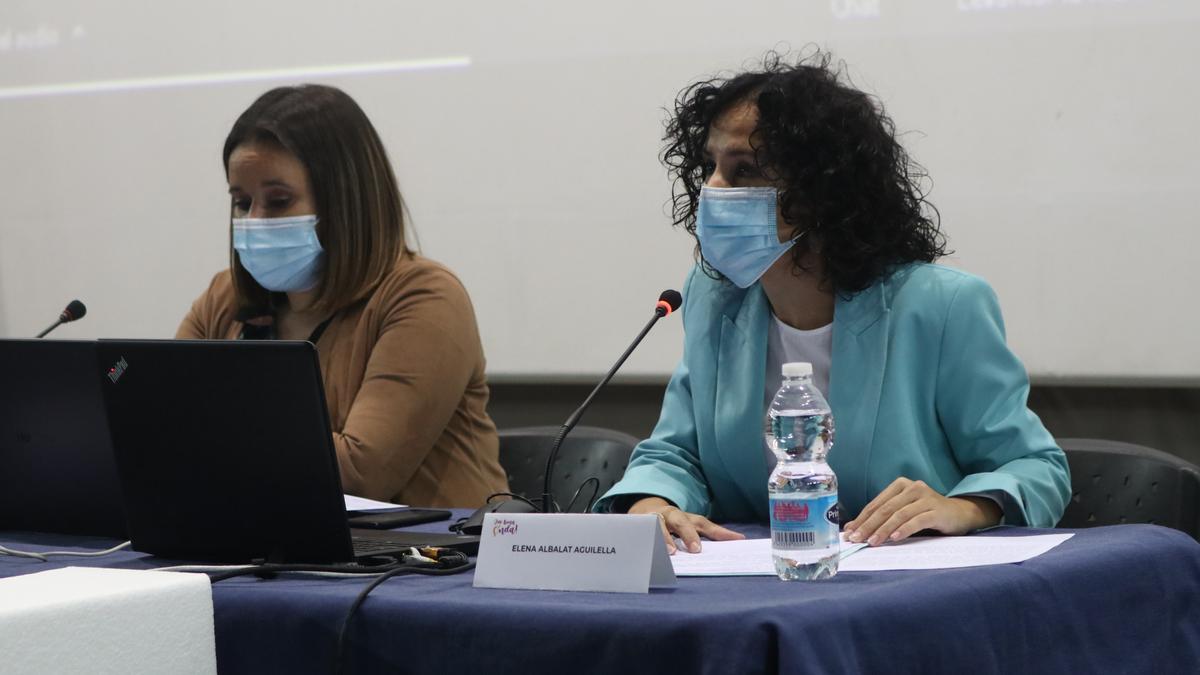
[[[521,426],[500,430],[500,466],[509,474],[509,489],[529,500],[541,497],[546,476],[546,459],[554,444],[559,426]],[[558,506],[566,510],[571,496],[584,480],[595,477],[600,482],[596,496],[604,495],[613,483],[620,480],[634,452],[637,438],[629,434],[599,426],[576,426],[563,441],[554,462],[551,491]],[[592,488],[584,488],[570,509],[583,512]]]

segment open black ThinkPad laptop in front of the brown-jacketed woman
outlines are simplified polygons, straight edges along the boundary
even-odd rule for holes
[[[478,549],[478,537],[352,532],[310,342],[101,340],[96,356],[134,550],[325,563]]]

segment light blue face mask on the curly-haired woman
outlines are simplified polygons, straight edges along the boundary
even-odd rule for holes
[[[774,187],[701,187],[696,238],[708,264],[749,288],[796,244],[780,241]]]

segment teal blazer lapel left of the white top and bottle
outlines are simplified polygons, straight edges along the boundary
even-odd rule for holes
[[[762,434],[762,400],[767,369],[767,321],[770,310],[757,285],[745,294],[738,313],[721,322],[718,348],[716,425],[718,456],[746,507],[767,516],[767,459]]]

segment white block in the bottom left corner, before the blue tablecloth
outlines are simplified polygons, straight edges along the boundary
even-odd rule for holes
[[[209,578],[65,567],[0,579],[0,671],[216,675]]]

